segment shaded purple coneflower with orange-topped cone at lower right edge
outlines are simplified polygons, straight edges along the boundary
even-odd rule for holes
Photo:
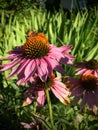
[[[93,74],[85,74],[81,78],[69,77],[67,84],[70,86],[71,96],[74,96],[73,105],[82,99],[81,108],[85,105],[91,109],[98,106],[98,78]]]

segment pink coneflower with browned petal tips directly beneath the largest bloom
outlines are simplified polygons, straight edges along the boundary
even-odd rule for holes
[[[63,104],[70,102],[68,88],[60,81],[60,77],[52,75],[50,78],[47,78],[46,82],[42,82],[39,77],[36,78],[36,82],[24,93],[25,101],[23,106],[31,104],[34,100],[37,101],[38,106],[43,106],[46,99],[45,89],[51,90]]]

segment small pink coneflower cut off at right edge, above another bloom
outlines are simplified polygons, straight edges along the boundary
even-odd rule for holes
[[[83,61],[76,63],[76,74],[94,74],[98,77],[98,60],[91,59],[89,61]]]

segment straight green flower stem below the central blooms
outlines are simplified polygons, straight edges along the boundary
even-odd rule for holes
[[[51,130],[55,130],[54,123],[53,123],[53,112],[52,112],[52,104],[51,104],[51,100],[50,100],[49,90],[46,88],[45,92],[46,92],[47,103],[48,103],[48,107],[49,107],[49,116],[50,116],[50,122],[51,122]]]

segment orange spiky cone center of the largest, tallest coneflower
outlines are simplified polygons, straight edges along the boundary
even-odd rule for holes
[[[32,31],[23,46],[23,51],[26,58],[41,58],[48,54],[49,42],[44,34]]]

